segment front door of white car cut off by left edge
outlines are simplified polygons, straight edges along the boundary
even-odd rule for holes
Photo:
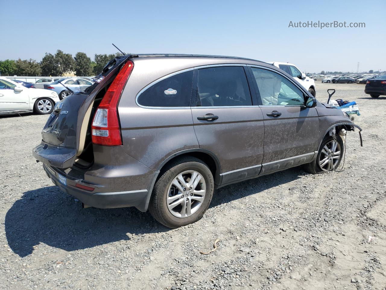
[[[20,85],[22,91],[17,92],[15,87],[13,83],[0,79],[0,112],[29,109],[29,89]]]

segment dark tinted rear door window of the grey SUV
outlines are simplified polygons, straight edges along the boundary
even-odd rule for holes
[[[198,70],[198,106],[251,106],[243,67],[211,67]]]

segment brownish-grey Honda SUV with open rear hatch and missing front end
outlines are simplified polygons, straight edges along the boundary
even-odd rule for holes
[[[56,104],[33,155],[85,207],[149,209],[175,228],[199,220],[215,188],[336,169],[354,126],[261,61],[126,55]]]

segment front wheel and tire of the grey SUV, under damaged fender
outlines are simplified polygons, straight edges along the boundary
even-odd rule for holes
[[[334,171],[338,168],[344,154],[342,139],[337,136],[336,140],[326,136],[320,145],[317,158],[304,165],[304,170],[311,174]]]

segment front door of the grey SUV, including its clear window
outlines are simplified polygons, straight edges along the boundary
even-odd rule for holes
[[[317,150],[318,114],[305,106],[305,92],[284,74],[251,67],[264,117],[262,172],[311,161]]]

